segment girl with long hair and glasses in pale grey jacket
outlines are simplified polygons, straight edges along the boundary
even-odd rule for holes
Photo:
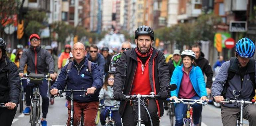
[[[114,98],[113,94],[113,85],[114,85],[114,78],[115,78],[115,71],[109,71],[105,76],[105,81],[102,86],[102,89],[99,93],[99,100],[104,99],[104,105],[106,106],[114,106],[118,105],[119,102],[116,100],[111,100],[111,98]],[[119,108],[111,108],[112,110],[112,118],[116,123],[116,126],[122,126],[121,123],[121,116],[118,112]],[[105,125],[105,119],[109,114],[109,110],[106,110],[106,108],[101,110],[100,113],[100,123],[101,125]]]

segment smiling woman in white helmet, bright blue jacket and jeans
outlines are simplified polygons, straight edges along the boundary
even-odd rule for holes
[[[184,50],[181,54],[182,65],[177,66],[173,72],[171,83],[176,84],[177,89],[171,91],[171,100],[176,98],[203,99],[208,101],[205,82],[201,69],[195,64],[195,53],[192,50]],[[199,124],[202,105],[193,104],[193,124]],[[178,103],[175,106],[175,126],[183,126],[183,118],[186,115],[187,105]]]

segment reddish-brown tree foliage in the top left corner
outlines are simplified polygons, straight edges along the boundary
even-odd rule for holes
[[[3,31],[6,25],[13,23],[13,16],[18,14],[19,0],[0,0],[0,35],[3,36]]]

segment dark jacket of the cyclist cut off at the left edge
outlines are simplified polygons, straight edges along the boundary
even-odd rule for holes
[[[20,77],[17,66],[8,58],[0,60],[0,103],[19,104]]]

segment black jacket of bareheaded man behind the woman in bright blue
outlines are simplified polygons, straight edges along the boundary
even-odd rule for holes
[[[207,77],[206,88],[211,89],[213,72],[208,60],[205,59],[203,56],[204,54],[201,52],[201,55],[197,60],[195,60],[195,63],[201,68],[203,74],[205,74]]]

